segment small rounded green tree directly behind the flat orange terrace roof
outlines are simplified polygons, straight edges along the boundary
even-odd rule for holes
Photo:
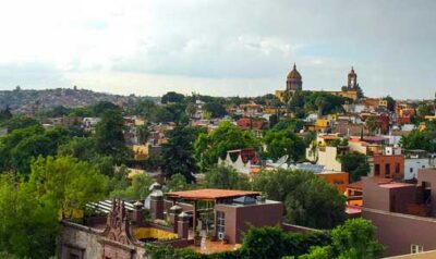
[[[217,165],[206,172],[205,187],[218,189],[250,189],[249,177],[229,166]]]

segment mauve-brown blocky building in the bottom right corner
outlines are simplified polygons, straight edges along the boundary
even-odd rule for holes
[[[362,217],[377,227],[384,256],[436,249],[435,186],[436,169],[420,170],[417,184],[363,180]]]

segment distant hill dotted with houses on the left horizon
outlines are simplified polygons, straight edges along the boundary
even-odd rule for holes
[[[0,107],[9,107],[13,113],[35,113],[53,107],[86,107],[98,101],[110,101],[116,104],[132,103],[142,97],[120,96],[96,92],[86,89],[57,88],[45,90],[0,90]]]

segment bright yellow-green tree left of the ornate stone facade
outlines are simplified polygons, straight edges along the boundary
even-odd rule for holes
[[[72,157],[39,157],[32,165],[34,194],[52,203],[62,219],[105,195],[107,178],[85,161]]]

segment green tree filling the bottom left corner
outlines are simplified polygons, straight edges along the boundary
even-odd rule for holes
[[[26,182],[0,175],[0,257],[49,258],[60,227],[55,206],[38,199]],[[9,255],[10,257],[5,257]]]

